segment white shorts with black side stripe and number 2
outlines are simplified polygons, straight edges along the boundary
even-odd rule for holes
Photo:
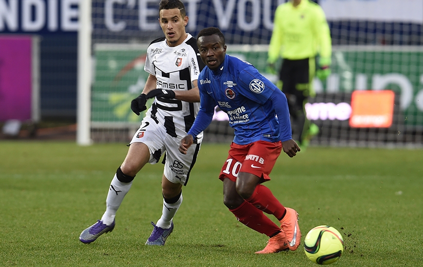
[[[188,149],[187,154],[182,154],[178,150],[182,137],[172,137],[166,134],[163,125],[156,123],[151,117],[144,117],[140,128],[129,144],[141,142],[147,145],[150,150],[150,164],[158,163],[161,155],[166,152],[163,159],[164,176],[174,184],[187,185],[201,143],[194,143]]]

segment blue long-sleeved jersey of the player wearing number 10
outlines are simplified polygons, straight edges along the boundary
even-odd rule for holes
[[[195,137],[204,130],[202,128],[210,124],[214,107],[218,105],[228,114],[229,124],[235,130],[233,142],[236,144],[259,140],[283,142],[292,138],[286,97],[251,64],[225,55],[219,69],[205,67],[201,71],[198,88],[199,117],[188,134]],[[276,104],[282,112],[275,111],[276,101],[270,100],[272,94],[278,96]],[[199,121],[201,119],[205,121]]]

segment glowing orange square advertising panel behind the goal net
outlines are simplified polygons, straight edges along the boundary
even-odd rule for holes
[[[353,91],[350,126],[389,128],[392,125],[395,93],[391,90]]]

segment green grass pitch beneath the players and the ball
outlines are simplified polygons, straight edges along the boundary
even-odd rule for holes
[[[164,247],[144,243],[161,214],[162,165],[135,178],[112,233],[78,240],[100,219],[124,144],[0,142],[0,266],[298,267],[303,251],[257,255],[267,237],[239,223],[217,179],[229,144],[204,144]],[[307,232],[335,227],[345,250],[333,266],[423,265],[423,151],[308,148],[282,154],[265,183]]]

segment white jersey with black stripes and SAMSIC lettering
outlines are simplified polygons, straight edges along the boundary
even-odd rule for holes
[[[164,37],[154,40],[148,46],[144,70],[156,76],[156,88],[185,91],[194,87],[193,81],[198,80],[203,67],[196,40],[188,33],[184,42],[176,47],[169,47]],[[163,125],[170,136],[183,138],[199,108],[199,102],[156,98],[146,116]],[[201,142],[202,137],[203,133],[197,135],[197,141]]]

